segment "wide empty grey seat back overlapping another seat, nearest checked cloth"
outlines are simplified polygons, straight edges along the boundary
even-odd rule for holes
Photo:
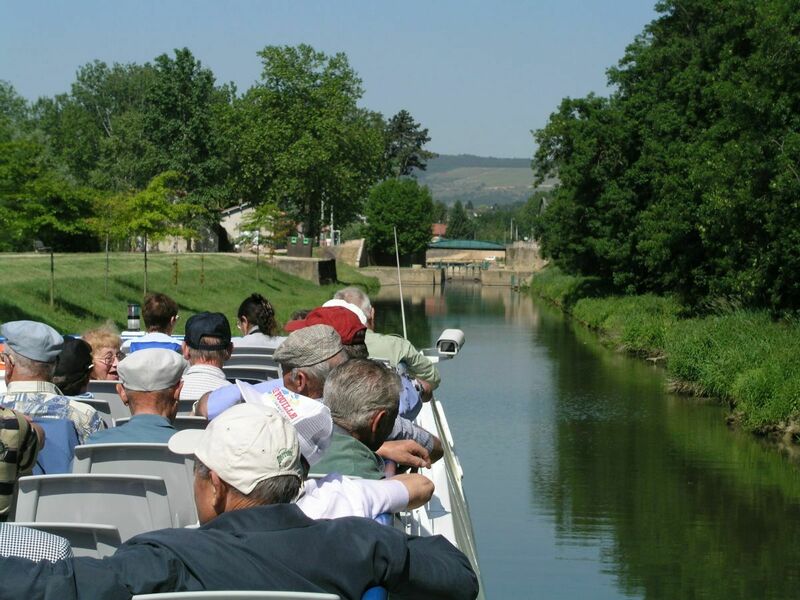
[[[119,529],[123,542],[176,526],[166,483],[148,475],[21,477],[15,521],[105,523]]]

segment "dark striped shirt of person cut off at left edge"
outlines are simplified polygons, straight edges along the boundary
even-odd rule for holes
[[[0,521],[11,508],[17,478],[33,467],[39,439],[25,417],[0,408]]]

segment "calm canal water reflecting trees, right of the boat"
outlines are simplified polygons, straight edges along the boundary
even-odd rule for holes
[[[800,597],[798,467],[715,405],[507,288],[405,288],[440,366],[484,590],[505,598]],[[396,288],[376,329],[402,332]]]

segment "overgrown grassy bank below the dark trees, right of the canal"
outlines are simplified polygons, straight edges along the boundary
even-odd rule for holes
[[[663,362],[677,391],[728,403],[751,431],[798,430],[800,325],[766,312],[729,309],[683,318],[675,300],[652,295],[591,297],[594,282],[556,267],[532,293],[596,330],[610,346]]]

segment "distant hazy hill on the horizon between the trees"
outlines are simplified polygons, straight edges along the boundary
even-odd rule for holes
[[[528,158],[495,158],[472,154],[441,154],[414,175],[431,190],[434,200],[451,205],[456,200],[473,206],[525,202],[534,192]],[[540,189],[549,189],[548,181]]]

